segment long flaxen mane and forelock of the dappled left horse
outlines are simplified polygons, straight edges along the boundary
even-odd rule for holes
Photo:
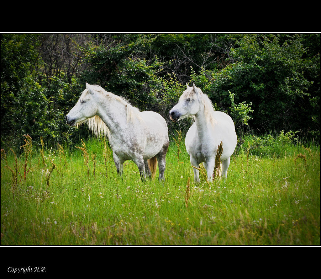
[[[117,96],[111,92],[107,92],[104,90],[101,86],[99,85],[91,85],[94,87],[94,90],[100,94],[100,99],[103,98],[108,98],[110,100],[115,100],[121,104],[123,104],[126,107],[126,117],[127,117],[127,122],[134,122],[135,119],[138,119],[139,121],[142,121],[141,117],[139,116],[139,109],[133,107],[128,101],[120,96]],[[88,89],[85,89],[82,92],[82,95],[80,96],[80,99],[84,98],[86,94],[88,94]],[[101,118],[98,115],[95,115],[91,118],[88,118],[82,122],[79,122],[77,124],[81,125],[82,123],[87,123],[89,129],[93,132],[93,134],[96,137],[99,137],[101,134],[105,135],[105,137],[109,138],[109,129],[107,125],[101,120]]]

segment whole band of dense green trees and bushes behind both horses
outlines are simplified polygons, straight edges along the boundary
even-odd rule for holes
[[[1,148],[79,142],[64,117],[85,82],[159,112],[200,87],[245,131],[301,131],[319,139],[319,34],[1,34]]]

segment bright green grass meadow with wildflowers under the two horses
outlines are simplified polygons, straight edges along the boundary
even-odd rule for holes
[[[226,181],[195,185],[179,140],[160,183],[132,161],[120,178],[103,140],[26,138],[20,158],[1,154],[1,245],[320,245],[320,148],[272,143],[245,142]]]

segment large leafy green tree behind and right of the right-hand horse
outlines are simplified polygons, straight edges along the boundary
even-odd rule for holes
[[[220,71],[204,70],[195,77],[197,82],[223,110],[231,104],[229,91],[234,94],[235,104],[252,103],[253,119],[248,123],[255,129],[295,131],[303,127],[301,118],[306,119],[307,115],[300,104],[308,98],[312,84],[305,74],[304,35],[233,37],[234,48],[229,56],[235,62]]]

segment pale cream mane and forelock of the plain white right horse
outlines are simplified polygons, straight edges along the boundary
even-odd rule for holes
[[[201,95],[202,105],[204,107],[204,115],[207,122],[211,123],[213,126],[215,123],[215,118],[213,116],[214,107],[210,98],[202,92],[200,88],[197,87],[198,93]],[[179,101],[184,99],[195,100],[196,94],[193,87],[188,87],[184,93],[180,96]],[[195,122],[195,115],[191,116],[192,122]]]

